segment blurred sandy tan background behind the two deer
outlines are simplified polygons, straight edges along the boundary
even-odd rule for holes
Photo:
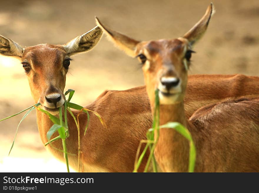
[[[259,75],[258,0],[215,0],[216,13],[195,46],[190,74]],[[0,0],[0,34],[28,47],[64,44],[96,24],[94,16],[137,40],[177,38],[205,13],[210,1],[190,0]],[[72,102],[87,105],[105,89],[124,90],[144,84],[142,70],[104,36],[87,53],[73,56],[65,90]],[[0,120],[31,105],[28,81],[17,58],[0,55]],[[66,172],[40,140],[36,113],[20,125],[23,114],[0,122],[0,172]]]

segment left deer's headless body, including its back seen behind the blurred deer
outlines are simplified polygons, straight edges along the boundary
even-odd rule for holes
[[[190,118],[195,110],[204,105],[215,103],[215,101],[242,95],[251,97],[259,94],[252,94],[251,90],[246,89],[238,92],[242,84],[246,88],[256,85],[259,82],[259,77],[248,77],[245,75],[190,75],[188,78],[189,86],[187,87],[185,97],[185,113],[187,118]],[[215,80],[217,80],[217,85],[215,84]],[[236,92],[233,90],[230,92],[229,89],[226,89],[227,87],[218,88],[218,85],[227,84],[230,84],[231,87],[234,86],[233,89]],[[200,92],[192,92],[197,86]],[[213,94],[217,89],[219,89],[218,91],[222,95]],[[84,172],[131,172],[134,167],[139,141],[146,137],[147,130],[152,127],[150,102],[145,86],[122,91],[104,91],[93,103],[87,105],[85,108],[101,114],[108,127],[105,129],[96,116],[90,113],[89,126],[86,135],[84,135],[87,115],[84,113],[80,114],[81,160],[84,162]],[[79,111],[72,112],[75,117],[79,113]],[[47,142],[47,132],[53,123],[40,111],[37,111],[37,123],[41,140],[45,144]],[[69,153],[74,154],[69,155],[69,165],[77,169],[78,134],[77,127],[69,113],[68,123],[70,137],[66,140],[67,148]],[[61,142],[56,141],[52,145],[55,148],[62,149]],[[62,152],[56,151],[49,145],[47,149],[59,160],[64,161]],[[104,155],[104,152],[106,155]],[[122,154],[120,152],[126,153]],[[143,165],[141,165],[139,171],[143,171],[146,161],[147,157],[143,160]]]

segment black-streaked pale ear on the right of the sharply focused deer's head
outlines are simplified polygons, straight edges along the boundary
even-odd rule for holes
[[[69,56],[89,51],[99,42],[102,37],[102,33],[102,29],[96,26],[83,35],[70,40],[64,45],[64,48]]]

